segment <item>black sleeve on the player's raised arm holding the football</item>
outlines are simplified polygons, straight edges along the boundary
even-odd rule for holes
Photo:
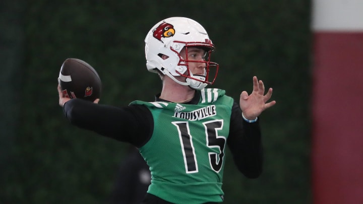
[[[151,112],[143,105],[114,107],[72,99],[64,105],[64,112],[71,124],[77,127],[135,147],[146,143],[154,126]]]

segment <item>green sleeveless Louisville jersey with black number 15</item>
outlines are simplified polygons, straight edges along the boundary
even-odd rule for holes
[[[224,90],[198,91],[198,104],[134,101],[149,108],[151,139],[139,149],[150,167],[148,193],[173,203],[223,201],[224,151],[233,99]]]

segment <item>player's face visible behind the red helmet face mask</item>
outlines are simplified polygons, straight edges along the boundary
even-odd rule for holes
[[[188,62],[189,71],[192,72],[193,75],[205,75],[205,67],[206,63],[206,51],[202,48],[198,47],[188,47],[188,57],[186,56],[186,48],[184,47],[180,51],[180,56],[184,59],[190,60]],[[194,62],[191,62],[194,61]]]

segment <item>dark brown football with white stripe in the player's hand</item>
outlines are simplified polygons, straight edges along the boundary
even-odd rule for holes
[[[58,83],[68,98],[80,98],[94,101],[101,96],[101,79],[87,62],[77,59],[66,59],[59,72]]]

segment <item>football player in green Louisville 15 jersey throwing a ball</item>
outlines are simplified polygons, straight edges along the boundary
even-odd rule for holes
[[[258,116],[275,105],[272,88],[253,77],[253,91],[239,101],[213,84],[219,65],[214,44],[196,21],[172,17],[145,38],[147,70],[162,80],[155,101],[113,107],[65,98],[59,105],[68,120],[139,149],[151,171],[142,203],[217,203],[223,201],[222,175],[228,147],[235,166],[248,178],[262,172]]]

